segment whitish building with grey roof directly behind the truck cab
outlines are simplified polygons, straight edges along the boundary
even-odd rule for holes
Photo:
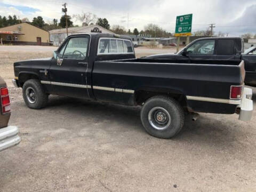
[[[81,33],[97,33],[97,32],[114,34],[112,31],[105,29],[99,25],[68,28],[68,35],[81,34]],[[53,42],[54,46],[59,46],[67,37],[66,28],[53,29],[53,30],[50,30],[49,33],[50,33],[50,41]]]

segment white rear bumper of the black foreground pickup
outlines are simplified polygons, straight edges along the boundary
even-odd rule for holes
[[[238,108],[241,109],[239,120],[250,121],[253,112],[252,89],[244,87],[243,98]]]

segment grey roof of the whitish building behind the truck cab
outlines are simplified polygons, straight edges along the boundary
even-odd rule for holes
[[[99,25],[91,25],[91,26],[82,26],[82,27],[69,27],[68,28],[68,33],[79,33],[81,30],[89,30],[87,31],[87,33],[91,33],[91,29],[98,27],[99,29],[104,29],[106,31],[108,31],[108,33],[110,34],[114,34],[112,31],[103,28]],[[50,34],[61,34],[61,33],[67,33],[66,28],[62,28],[62,29],[53,29],[49,31]]]

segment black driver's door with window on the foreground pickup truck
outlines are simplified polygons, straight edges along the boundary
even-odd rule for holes
[[[49,76],[53,94],[87,98],[90,87],[86,83],[89,35],[73,36],[60,47],[52,59]]]

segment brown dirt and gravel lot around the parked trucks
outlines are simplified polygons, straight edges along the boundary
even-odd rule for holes
[[[139,107],[51,96],[32,110],[8,80],[12,63],[52,50],[13,48],[0,46],[0,75],[10,88],[9,124],[22,141],[0,153],[0,191],[256,191],[255,111],[247,123],[237,115],[187,117],[178,137],[163,140],[145,132]]]

